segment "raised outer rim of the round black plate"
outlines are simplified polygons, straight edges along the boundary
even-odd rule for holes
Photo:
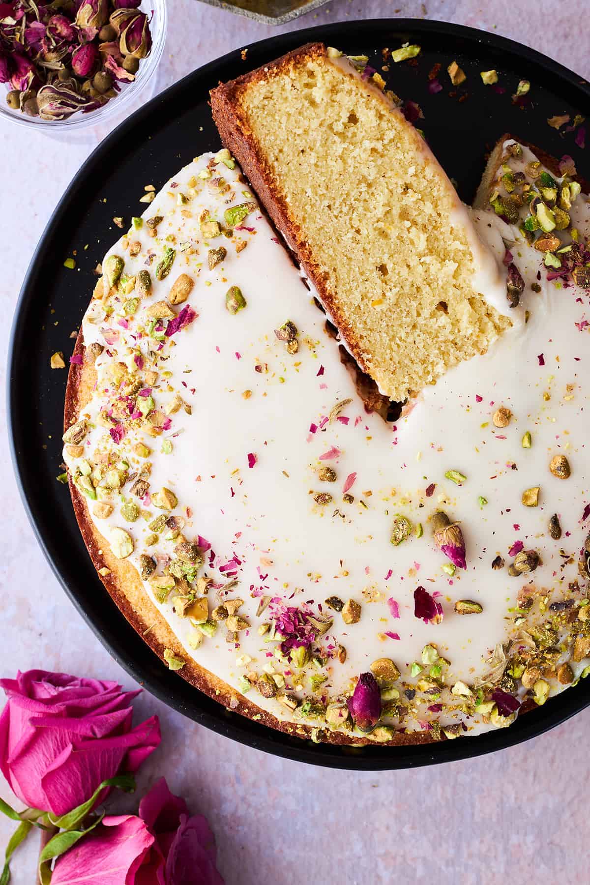
[[[487,49],[505,50],[512,55],[518,55],[524,64],[531,64],[540,67],[546,73],[555,74],[562,81],[567,81],[571,88],[575,89],[586,102],[590,105],[590,86],[585,78],[571,71],[569,68],[561,65],[559,62],[548,58],[538,50],[533,50],[529,46],[522,45],[509,37],[502,35],[490,34],[486,31],[480,31],[478,28],[458,25],[451,22],[444,22],[433,19],[362,19],[344,22],[335,22],[334,24],[318,25],[315,27],[305,28],[287,32],[286,34],[273,35],[263,40],[248,44],[249,50],[266,50],[268,48],[271,58],[282,54],[291,48],[291,44],[303,44],[304,42],[333,40],[338,42],[339,35],[343,35],[346,39],[345,32],[353,31],[359,41],[378,33],[383,30],[394,30],[396,33],[408,33],[410,35],[433,35],[440,34],[448,36],[452,39],[464,39],[467,42],[479,42],[486,45]],[[335,39],[334,39],[335,37]],[[276,47],[276,50],[275,50]],[[47,244],[50,242],[53,228],[59,224],[65,212],[68,210],[69,204],[73,197],[80,189],[80,182],[85,180],[89,170],[100,162],[104,155],[108,155],[113,145],[119,142],[119,139],[126,133],[130,132],[134,124],[139,120],[149,117],[156,109],[158,104],[167,101],[175,93],[181,92],[187,85],[187,81],[195,79],[195,81],[203,81],[211,73],[216,70],[223,69],[237,59],[241,49],[235,49],[227,52],[224,56],[212,59],[206,65],[195,69],[186,76],[165,89],[164,92],[152,98],[148,103],[144,104],[134,114],[121,122],[118,127],[105,136],[94,150],[88,155],[88,158],[74,173],[72,181],[68,184],[63,196],[61,196],[56,208],[50,215],[42,235],[37,243],[33,256],[27,267],[27,273],[23,280],[19,298],[15,307],[14,316],[11,322],[11,333],[7,352],[7,430],[9,437],[9,447],[11,452],[11,463],[14,470],[14,476],[19,489],[19,496],[27,513],[27,519],[33,528],[34,535],[41,546],[43,555],[47,559],[51,571],[57,577],[57,581],[65,590],[66,596],[73,603],[74,607],[80,612],[80,615],[88,624],[88,627],[100,640],[106,650],[109,651],[111,657],[121,666],[134,681],[145,686],[151,694],[156,696],[158,700],[171,707],[173,710],[187,716],[188,719],[197,722],[210,730],[229,737],[238,743],[242,743],[253,749],[270,752],[272,755],[280,756],[306,762],[311,765],[325,766],[330,768],[349,769],[356,771],[381,771],[381,770],[397,770],[404,768],[413,768],[419,766],[438,765],[444,762],[458,761],[464,758],[474,758],[485,755],[490,752],[504,750],[508,747],[515,746],[518,743],[524,743],[535,736],[544,734],[549,729],[562,724],[571,718],[577,712],[582,711],[586,706],[590,705],[590,692],[586,692],[586,697],[580,688],[570,689],[564,692],[559,698],[554,698],[551,708],[543,712],[540,709],[527,713],[522,719],[517,720],[515,725],[508,729],[498,729],[494,732],[488,732],[484,735],[476,737],[464,737],[460,741],[445,741],[435,744],[417,744],[408,747],[339,747],[333,744],[318,743],[314,744],[302,738],[286,735],[282,732],[275,731],[272,728],[258,725],[256,722],[242,717],[239,714],[226,711],[221,704],[204,696],[198,689],[191,686],[188,682],[178,679],[177,674],[169,671],[154,655],[154,653],[145,645],[146,658],[138,661],[126,658],[125,650],[121,648],[120,639],[113,638],[109,632],[101,627],[93,620],[84,609],[83,596],[75,586],[71,586],[70,581],[65,578],[62,569],[58,565],[57,556],[50,550],[49,544],[43,535],[42,528],[37,524],[35,517],[35,509],[37,504],[34,496],[27,491],[26,486],[26,464],[24,463],[24,455],[20,450],[18,425],[19,425],[19,396],[17,394],[19,388],[18,372],[15,371],[19,360],[19,314],[23,304],[34,297],[34,279],[38,275],[42,267]],[[272,55],[271,55],[272,53]],[[573,99],[572,99],[573,100]],[[106,595],[108,596],[108,595]],[[128,625],[125,616],[113,604],[116,615],[125,622],[129,629],[133,627]],[[111,631],[112,634],[112,631]],[[140,637],[141,638],[141,637]],[[149,670],[153,669],[150,665],[154,663],[158,666],[157,681],[149,675]],[[180,690],[179,690],[180,689]],[[196,702],[188,703],[182,694],[186,691],[196,693]],[[211,712],[203,709],[203,701],[209,701],[214,704]],[[556,702],[559,703],[556,703]]]

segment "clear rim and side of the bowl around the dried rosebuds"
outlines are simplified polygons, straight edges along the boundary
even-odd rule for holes
[[[16,123],[18,126],[34,127],[37,131],[43,131],[47,135],[73,135],[74,130],[80,132],[83,129],[96,127],[107,121],[112,122],[113,118],[129,112],[131,105],[136,104],[140,96],[144,96],[144,99],[147,100],[154,91],[154,73],[164,51],[168,16],[165,0],[143,0],[139,9],[151,16],[149,21],[151,51],[147,58],[140,60],[134,81],[122,84],[121,91],[116,98],[111,98],[109,102],[103,104],[103,107],[97,108],[96,111],[88,113],[77,111],[67,119],[41,119],[41,117],[28,117],[27,114],[10,108],[6,104],[6,94],[10,89],[10,84],[6,84],[4,88],[0,89],[0,119],[11,120],[12,123]],[[148,84],[151,87],[150,93],[147,92]]]

